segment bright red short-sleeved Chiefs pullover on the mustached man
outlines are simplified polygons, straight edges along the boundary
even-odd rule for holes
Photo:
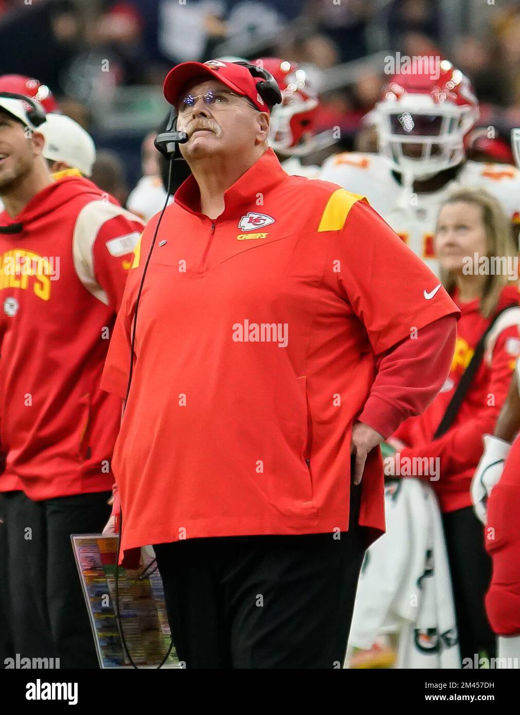
[[[436,277],[360,199],[288,176],[272,149],[227,189],[214,221],[193,177],[177,190],[144,281],[114,448],[122,551],[348,528],[353,422],[371,400],[396,409],[371,394],[376,358],[411,326],[457,312],[444,291],[425,300]],[[103,387],[119,398],[156,225],[136,248],[104,369]],[[265,326],[276,337],[263,340]],[[429,393],[417,392],[428,395],[423,409]],[[384,530],[378,450],[360,524],[371,539]]]

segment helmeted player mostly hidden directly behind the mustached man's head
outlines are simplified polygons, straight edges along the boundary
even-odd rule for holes
[[[334,139],[332,132],[315,133],[319,102],[308,73],[295,62],[279,57],[260,57],[252,64],[267,69],[282,91],[282,104],[271,110],[270,147],[288,174],[317,179],[320,167],[305,166],[300,157],[330,146]]]

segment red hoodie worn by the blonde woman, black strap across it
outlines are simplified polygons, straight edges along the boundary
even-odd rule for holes
[[[509,390],[516,357],[520,353],[520,307],[515,307],[499,317],[486,338],[484,359],[453,425],[441,438],[433,440],[463,371],[491,322],[482,317],[479,300],[461,303],[455,294],[453,301],[461,309],[461,317],[448,379],[428,409],[422,415],[403,422],[393,435],[407,445],[401,450],[401,464],[403,458],[438,458],[438,480],[431,480],[430,483],[443,512],[471,506],[469,490],[483,450],[482,436],[493,433]],[[504,287],[496,311],[511,304],[519,304],[516,285]],[[430,480],[430,476],[423,478]]]

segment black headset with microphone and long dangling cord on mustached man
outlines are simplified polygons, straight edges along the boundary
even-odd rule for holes
[[[268,105],[269,109],[272,109],[275,106],[275,104],[281,104],[282,92],[280,91],[280,87],[278,87],[278,82],[276,82],[273,75],[267,69],[263,69],[263,67],[259,67],[256,64],[250,64],[249,62],[242,61],[242,60],[237,61],[234,64],[240,64],[242,66],[247,67],[247,69],[250,71],[250,74],[252,74],[252,77],[258,77],[260,79],[260,82],[256,83],[257,91],[258,91],[258,94],[260,94],[260,97],[262,97],[262,99],[264,100],[265,104]],[[170,160],[170,171],[168,172],[168,185],[167,185],[167,189],[166,189],[167,197],[166,197],[165,205],[162,207],[160,217],[157,220],[157,226],[155,227],[154,235],[152,238],[152,243],[149,247],[146,262],[144,263],[144,268],[142,270],[141,282],[139,283],[139,290],[137,290],[137,297],[135,299],[134,320],[133,320],[133,325],[132,325],[132,339],[130,341],[131,342],[131,345],[130,345],[130,366],[129,366],[129,370],[128,370],[127,394],[126,394],[126,397],[124,398],[123,412],[124,412],[124,408],[126,408],[126,405],[128,403],[130,386],[132,385],[132,375],[134,372],[134,349],[135,349],[135,334],[136,334],[136,326],[137,326],[137,310],[139,308],[139,300],[141,300],[142,287],[144,285],[144,278],[145,278],[147,270],[148,270],[149,260],[150,260],[150,257],[152,256],[152,251],[154,250],[155,240],[157,239],[157,233],[159,232],[159,227],[162,222],[162,217],[165,215],[165,211],[167,209],[168,202],[170,200],[170,194],[171,194],[171,189],[172,189],[173,161],[174,161],[174,159],[184,159],[184,157],[180,153],[179,144],[185,144],[187,142],[187,140],[188,140],[188,135],[186,132],[177,132],[177,112],[175,110],[175,107],[172,106],[172,109],[170,110],[170,117],[168,119],[168,123],[167,123],[167,127],[165,129],[165,132],[158,134],[157,138],[154,141],[154,145],[155,145],[155,148],[157,149],[157,151],[160,152],[163,155],[163,157]],[[120,518],[119,518],[119,534],[118,534],[118,538],[117,538],[116,578],[115,578],[115,592],[116,592],[115,595],[116,595],[117,607],[114,608],[114,610],[116,613],[117,622],[119,623],[119,633],[121,635],[121,641],[122,641],[122,644],[124,647],[124,651],[126,652],[127,657],[129,659],[132,667],[136,670],[139,670],[139,667],[134,663],[134,661],[132,660],[132,656],[129,653],[129,650],[127,647],[127,642],[124,638],[121,616],[119,614],[119,566],[118,565],[119,565],[119,554],[120,554],[120,550],[121,550],[122,529],[123,529],[123,515],[121,513]],[[147,568],[152,566],[152,563],[150,563]],[[147,571],[147,569],[144,569],[144,571]],[[172,647],[173,647],[173,640],[171,640],[170,647],[167,650],[167,654],[165,655],[162,663],[159,666],[157,666],[157,669],[162,668],[162,666],[166,663],[168,656],[170,656]]]

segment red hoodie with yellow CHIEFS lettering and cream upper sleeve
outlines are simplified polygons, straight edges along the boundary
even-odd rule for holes
[[[109,490],[121,401],[99,390],[142,221],[68,176],[0,214],[0,491]]]

